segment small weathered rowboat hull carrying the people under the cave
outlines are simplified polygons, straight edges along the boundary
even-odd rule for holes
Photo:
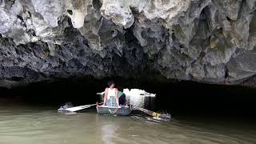
[[[110,114],[110,115],[129,115],[132,111],[130,106],[122,106],[120,108],[114,106],[96,106],[98,114]]]

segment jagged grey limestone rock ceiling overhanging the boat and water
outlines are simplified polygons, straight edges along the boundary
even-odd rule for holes
[[[0,86],[256,74],[256,0],[0,0]]]

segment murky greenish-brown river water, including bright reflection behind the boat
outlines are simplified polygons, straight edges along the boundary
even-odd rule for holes
[[[155,98],[130,98],[150,108]],[[161,121],[144,114],[98,115],[95,108],[76,114],[58,113],[56,106],[0,102],[1,144],[254,144],[254,122],[179,115]]]

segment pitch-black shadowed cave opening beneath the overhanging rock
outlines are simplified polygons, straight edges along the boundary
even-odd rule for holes
[[[99,101],[97,92],[105,90],[106,82],[94,78],[68,78],[54,82],[36,82],[12,89],[1,88],[1,98],[26,105],[61,106],[65,102],[84,105]],[[245,86],[210,85],[198,82],[138,82],[112,78],[122,88],[138,88],[157,94],[152,110],[170,114],[216,115],[255,118],[256,90]]]

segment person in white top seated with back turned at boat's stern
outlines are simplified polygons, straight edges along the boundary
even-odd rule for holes
[[[120,107],[118,99],[118,89],[114,88],[114,81],[107,82],[107,85],[109,87],[105,89],[103,106],[106,105]]]

